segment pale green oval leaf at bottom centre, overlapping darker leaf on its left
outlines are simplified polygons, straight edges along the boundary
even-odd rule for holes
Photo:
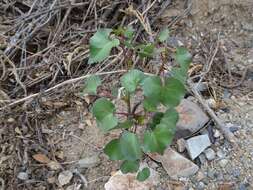
[[[135,161],[141,158],[141,148],[134,133],[124,132],[120,138],[121,151],[126,160]]]

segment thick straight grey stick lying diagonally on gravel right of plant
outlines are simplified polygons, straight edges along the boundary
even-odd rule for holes
[[[214,113],[214,111],[209,107],[209,105],[205,102],[201,94],[197,91],[197,89],[194,87],[193,82],[189,79],[187,81],[190,90],[192,91],[195,98],[197,98],[198,102],[202,105],[202,107],[206,110],[206,112],[209,114],[209,116],[215,121],[217,124],[217,128],[223,133],[225,138],[231,142],[235,147],[236,145],[236,139],[232,132],[230,132],[229,128],[226,127],[225,123],[217,117],[217,115]]]

